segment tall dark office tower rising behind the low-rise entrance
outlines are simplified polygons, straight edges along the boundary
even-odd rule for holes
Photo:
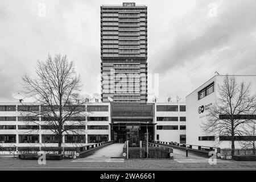
[[[101,6],[101,97],[147,102],[147,6]]]

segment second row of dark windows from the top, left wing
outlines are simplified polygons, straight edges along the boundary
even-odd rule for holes
[[[41,121],[57,121],[55,117],[41,117]],[[16,117],[0,117],[0,121],[16,121]],[[39,121],[39,117],[18,117],[18,121]],[[67,121],[86,121],[86,117],[69,117]],[[87,121],[109,121],[109,117],[87,117]]]

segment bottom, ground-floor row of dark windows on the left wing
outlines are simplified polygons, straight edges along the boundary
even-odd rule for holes
[[[85,143],[85,135],[64,135],[65,143]],[[88,135],[88,143],[109,140],[109,135]],[[0,143],[16,143],[16,135],[0,135]],[[19,135],[19,143],[39,143],[39,135]],[[57,135],[42,135],[42,143],[58,143]]]

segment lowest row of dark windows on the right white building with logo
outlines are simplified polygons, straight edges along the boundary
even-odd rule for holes
[[[231,136],[220,136],[219,140],[220,141],[230,141],[232,139]],[[204,137],[199,137],[199,141],[214,141],[215,137],[214,136],[204,136]],[[234,140],[236,141],[256,141],[256,136],[235,136]]]

